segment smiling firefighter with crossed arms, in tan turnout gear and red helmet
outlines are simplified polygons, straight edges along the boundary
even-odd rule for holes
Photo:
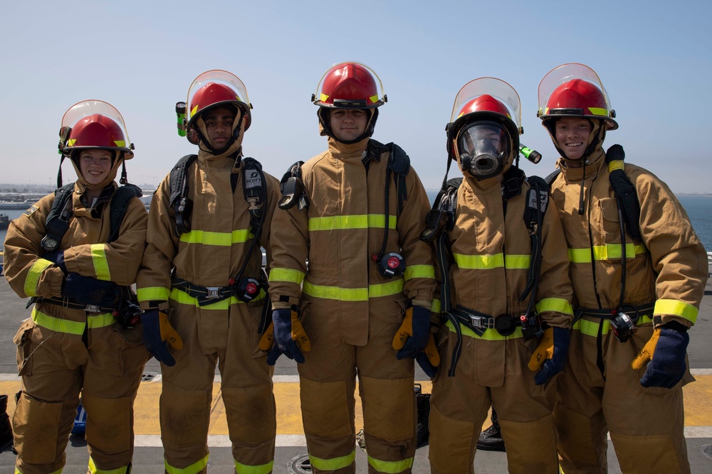
[[[127,474],[133,403],[150,355],[131,290],[147,213],[132,185],[114,182],[133,145],[121,114],[88,100],[62,119],[62,159],[78,179],[10,224],[5,276],[35,303],[14,342],[22,392],[13,416],[15,473],[60,473],[81,393],[88,473]],[[126,182],[125,168],[122,184]],[[117,210],[115,210],[117,209]]]

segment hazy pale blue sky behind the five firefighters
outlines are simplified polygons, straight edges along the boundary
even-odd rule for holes
[[[519,93],[522,141],[544,156],[523,168],[545,176],[557,155],[536,117],[538,85],[576,62],[617,112],[607,145],[676,193],[712,193],[711,17],[708,1],[15,1],[0,37],[0,183],[54,183],[62,115],[103,99],[136,146],[130,181],[157,184],[195,150],[174,105],[209,69],[243,80],[254,107],[244,150],[281,177],[325,149],[310,96],[344,60],[378,73],[388,102],[374,138],[402,146],[426,188],[444,176],[455,95],[484,76]],[[74,176],[69,163],[63,174]]]

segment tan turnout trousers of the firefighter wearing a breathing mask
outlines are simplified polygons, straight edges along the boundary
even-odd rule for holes
[[[451,328],[447,323],[441,328]],[[448,376],[454,332],[441,343],[440,368],[430,399],[430,467],[433,474],[474,473],[476,443],[490,407],[497,411],[510,473],[557,472],[552,409],[557,377],[534,384],[527,367],[538,340],[524,341],[520,328],[508,338],[496,330],[476,336],[463,325],[462,353]],[[469,333],[470,335],[466,335]]]

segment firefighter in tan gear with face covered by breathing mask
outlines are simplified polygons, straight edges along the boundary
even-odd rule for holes
[[[445,227],[432,227],[429,215],[424,234],[436,242],[445,318],[431,397],[432,473],[474,472],[490,406],[510,473],[557,470],[553,377],[566,359],[572,288],[548,188],[517,166],[520,123],[515,90],[482,77],[459,91],[446,128],[448,161],[464,178],[446,185],[446,175],[454,202]]]

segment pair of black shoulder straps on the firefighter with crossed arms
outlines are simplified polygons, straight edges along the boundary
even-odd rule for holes
[[[54,192],[54,202],[45,221],[46,235],[41,243],[45,252],[53,252],[58,249],[62,238],[69,229],[73,193],[74,183],[64,185]],[[126,215],[130,200],[140,198],[142,195],[141,188],[137,185],[126,184],[116,188],[109,203],[110,234],[106,243],[113,242],[119,237],[119,228]]]

